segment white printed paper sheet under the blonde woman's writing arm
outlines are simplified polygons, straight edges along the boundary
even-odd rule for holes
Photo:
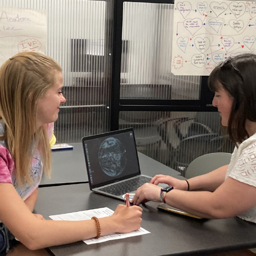
[[[99,208],[99,209],[92,209],[92,210],[83,210],[81,212],[70,212],[65,214],[58,214],[49,216],[53,220],[91,220],[91,217],[95,216],[97,218],[103,218],[107,216],[111,216],[114,213],[113,210],[109,209],[108,207]],[[84,240],[87,245],[102,243],[109,240],[121,239],[126,237],[134,237],[137,235],[144,235],[149,234],[150,232],[144,228],[140,228],[136,231],[131,233],[112,233],[109,235],[103,235],[100,238],[91,238]]]

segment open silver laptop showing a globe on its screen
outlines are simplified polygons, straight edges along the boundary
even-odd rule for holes
[[[150,182],[140,174],[133,128],[82,138],[90,190],[124,199]],[[130,197],[131,199],[131,197]]]

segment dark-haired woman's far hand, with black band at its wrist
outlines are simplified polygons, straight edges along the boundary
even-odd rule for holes
[[[173,178],[168,175],[163,174],[157,174],[155,175],[152,180],[150,180],[150,183],[154,185],[158,185],[159,183],[165,183],[168,186],[172,186],[174,189],[178,190],[188,190],[188,183],[186,180],[179,180],[176,178]]]

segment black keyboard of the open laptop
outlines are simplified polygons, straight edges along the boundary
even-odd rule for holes
[[[151,178],[139,176],[131,180],[125,180],[123,182],[101,188],[99,190],[112,195],[123,195],[125,193],[137,190],[138,187],[142,186],[146,182],[150,182],[150,180]]]

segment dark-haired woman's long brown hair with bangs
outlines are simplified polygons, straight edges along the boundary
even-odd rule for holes
[[[241,54],[228,58],[212,70],[208,85],[213,92],[222,86],[233,98],[228,134],[237,146],[249,137],[246,120],[256,122],[256,55]]]

